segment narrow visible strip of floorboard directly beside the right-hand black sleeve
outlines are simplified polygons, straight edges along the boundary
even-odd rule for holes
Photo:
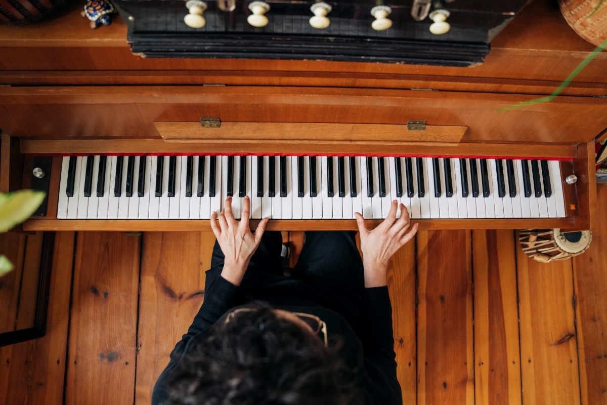
[[[417,338],[415,336],[415,240],[402,247],[388,262],[388,290],[392,302],[396,376],[402,403],[417,398]]]

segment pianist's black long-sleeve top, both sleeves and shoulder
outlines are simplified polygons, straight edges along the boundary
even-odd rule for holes
[[[234,307],[233,301],[237,286],[219,277],[205,294],[194,322],[183,335],[181,341],[171,352],[171,361],[161,373],[152,393],[152,405],[161,405],[169,398],[166,384],[181,361],[187,361],[195,336],[203,334],[215,322]],[[344,344],[340,355],[346,364],[364,364],[359,367],[359,385],[367,391],[367,403],[392,405],[402,404],[401,386],[396,379],[396,353],[392,335],[392,305],[388,296],[388,287],[365,288],[362,296],[361,332],[354,333],[345,319],[335,311],[319,307],[313,302],[283,302],[287,305],[273,307],[309,313],[318,316],[327,324],[328,335],[341,335]]]

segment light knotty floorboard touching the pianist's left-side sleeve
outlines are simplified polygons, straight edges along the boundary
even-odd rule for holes
[[[204,298],[212,232],[143,234],[135,404],[151,403],[156,379]]]

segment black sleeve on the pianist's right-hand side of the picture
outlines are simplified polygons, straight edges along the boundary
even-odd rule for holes
[[[402,404],[396,379],[392,305],[388,287],[365,288],[361,309],[361,340],[368,389],[376,404]]]

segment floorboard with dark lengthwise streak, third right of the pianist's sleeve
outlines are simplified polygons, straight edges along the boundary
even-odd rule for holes
[[[472,231],[476,404],[521,403],[514,231]]]

